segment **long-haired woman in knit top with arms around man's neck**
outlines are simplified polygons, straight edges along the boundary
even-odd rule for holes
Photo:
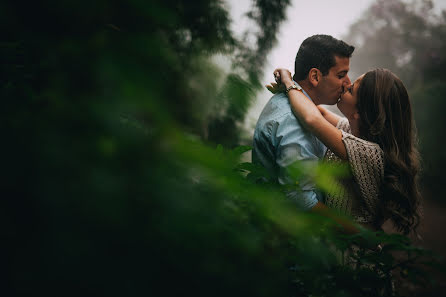
[[[295,84],[288,70],[274,73],[287,89]],[[353,180],[334,185],[327,206],[375,230],[391,219],[398,231],[414,231],[420,220],[419,159],[401,80],[386,69],[360,76],[337,104],[346,118],[317,107],[297,89],[288,90],[294,114],[327,146],[325,159],[349,162]]]

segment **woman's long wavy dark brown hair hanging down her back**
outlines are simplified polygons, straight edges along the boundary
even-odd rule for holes
[[[409,95],[387,69],[367,72],[358,88],[359,133],[384,151],[383,214],[404,234],[419,224],[419,155]]]

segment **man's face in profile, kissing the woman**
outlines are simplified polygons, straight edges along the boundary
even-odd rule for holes
[[[333,105],[344,92],[344,88],[351,85],[347,73],[350,70],[350,59],[335,56],[336,64],[330,68],[328,74],[322,76],[318,84],[318,98],[322,104]]]

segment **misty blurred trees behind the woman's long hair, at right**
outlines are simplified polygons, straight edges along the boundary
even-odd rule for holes
[[[430,0],[378,0],[350,27],[357,47],[352,78],[383,67],[404,82],[413,103],[425,196],[446,203],[446,11]]]

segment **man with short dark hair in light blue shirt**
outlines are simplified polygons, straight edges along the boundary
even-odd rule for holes
[[[296,88],[316,105],[333,105],[351,85],[347,75],[354,47],[329,35],[304,40],[295,59]],[[294,86],[293,86],[294,87]],[[289,91],[289,90],[287,90]],[[314,163],[325,155],[326,147],[310,134],[291,111],[287,95],[274,95],[264,107],[254,131],[253,163],[264,166],[282,184],[296,184],[287,167],[296,161]],[[305,210],[324,208],[311,180],[299,180],[300,191],[287,196]]]

